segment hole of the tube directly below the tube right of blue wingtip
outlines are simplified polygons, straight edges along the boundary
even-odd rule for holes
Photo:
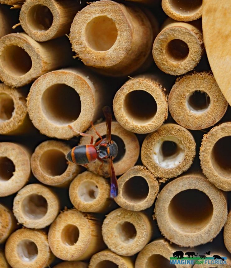
[[[116,232],[124,243],[131,243],[136,237],[135,226],[130,222],[122,222],[116,225]]]

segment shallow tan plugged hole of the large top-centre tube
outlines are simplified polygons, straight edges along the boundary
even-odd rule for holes
[[[87,45],[96,51],[109,50],[117,39],[115,22],[107,16],[99,16],[87,23],[85,40]]]

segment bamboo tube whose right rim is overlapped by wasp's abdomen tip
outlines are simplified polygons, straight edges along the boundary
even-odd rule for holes
[[[81,172],[78,165],[67,162],[65,156],[71,147],[62,141],[44,141],[31,156],[31,170],[44,184],[67,187]]]

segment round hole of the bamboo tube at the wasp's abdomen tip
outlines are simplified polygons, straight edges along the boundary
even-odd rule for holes
[[[68,167],[65,154],[56,149],[45,151],[39,162],[41,170],[49,176],[62,175]]]

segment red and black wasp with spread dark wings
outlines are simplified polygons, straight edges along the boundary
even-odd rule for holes
[[[102,164],[104,163],[104,161],[107,161],[110,181],[111,181],[110,196],[111,198],[114,198],[118,195],[118,184],[117,184],[117,178],[116,178],[112,160],[118,154],[118,146],[114,141],[111,140],[111,109],[110,107],[105,106],[103,108],[103,113],[106,119],[107,135],[106,135],[106,138],[103,139],[101,135],[96,131],[93,123],[91,122],[92,128],[94,129],[96,134],[100,137],[100,140],[97,141],[94,145],[93,145],[92,135],[78,132],[69,125],[69,127],[73,131],[78,133],[79,135],[90,136],[91,143],[88,145],[75,146],[74,148],[72,148],[72,150],[68,152],[68,154],[66,155],[66,159],[77,165],[87,165],[91,162],[96,161],[97,159],[100,160]]]

